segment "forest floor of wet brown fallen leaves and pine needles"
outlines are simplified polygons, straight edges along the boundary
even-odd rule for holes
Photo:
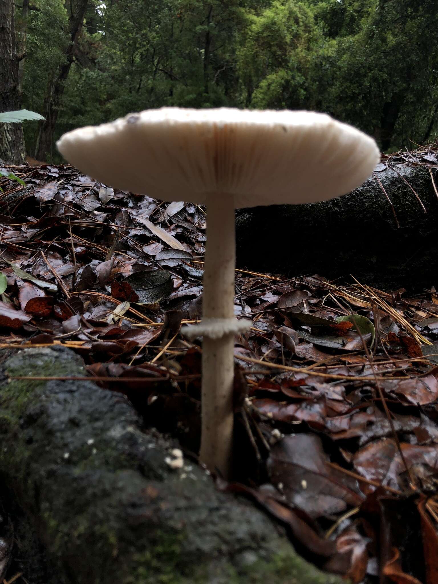
[[[71,348],[196,453],[201,343],[179,331],[201,314],[203,208],[71,166],[3,171],[21,182],[0,176],[0,348]],[[233,481],[218,482],[356,584],[436,584],[438,293],[352,282],[236,270],[252,326],[235,344]]]

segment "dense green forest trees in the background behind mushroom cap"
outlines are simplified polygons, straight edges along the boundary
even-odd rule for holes
[[[384,151],[438,130],[436,0],[23,0],[15,30],[40,160],[67,130],[161,106],[317,110]]]

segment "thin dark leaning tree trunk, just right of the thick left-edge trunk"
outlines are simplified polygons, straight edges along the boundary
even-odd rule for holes
[[[78,0],[76,11],[75,13],[71,13],[69,18],[70,44],[67,48],[65,61],[62,63],[58,71],[58,76],[51,85],[50,92],[48,92],[48,95],[44,100],[44,117],[46,120],[41,123],[35,150],[35,158],[39,160],[47,160],[48,156],[52,158],[53,130],[58,119],[65,82],[67,81],[68,73],[74,60],[75,48],[78,42],[79,33],[84,24],[85,12],[88,4],[89,0]]]

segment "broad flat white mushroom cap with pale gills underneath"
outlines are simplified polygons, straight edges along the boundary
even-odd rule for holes
[[[380,161],[376,142],[326,114],[163,107],[79,128],[57,142],[107,185],[166,201],[235,207],[312,203],[355,189]]]

